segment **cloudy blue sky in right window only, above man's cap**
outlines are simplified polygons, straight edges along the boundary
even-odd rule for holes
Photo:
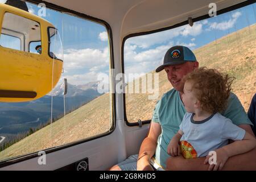
[[[166,51],[176,45],[192,50],[256,22],[256,6],[250,5],[229,13],[156,34],[130,38],[125,43],[125,70],[139,75],[163,63]]]

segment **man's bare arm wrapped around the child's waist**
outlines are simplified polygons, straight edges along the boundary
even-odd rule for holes
[[[250,125],[243,124],[239,127],[255,137]],[[188,160],[182,156],[176,156],[168,158],[166,166],[168,170],[208,170],[209,164],[204,164],[204,160],[205,158]],[[256,170],[256,148],[245,154],[232,156],[222,170]]]

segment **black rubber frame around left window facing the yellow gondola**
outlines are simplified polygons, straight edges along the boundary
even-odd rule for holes
[[[33,3],[35,5],[39,5],[39,3],[43,2],[43,1],[40,1],[40,0],[25,0],[25,1],[29,2],[29,3]],[[66,9],[65,7],[54,5],[54,4],[49,3],[49,2],[44,1],[43,3],[46,4],[46,7],[48,9],[58,11],[59,13],[68,13],[68,14],[71,14],[73,16],[77,16],[78,18],[81,18],[81,19],[84,19],[84,20],[89,20],[89,21],[92,21],[94,23],[98,23],[98,24],[101,24],[102,26],[104,26],[106,28],[106,31],[108,32],[108,35],[109,35],[109,39],[108,39],[108,42],[109,42],[109,44],[108,44],[109,45],[109,59],[110,59],[109,67],[110,67],[110,69],[114,69],[112,28],[110,27],[110,24],[108,22],[105,22],[105,20],[102,20],[102,19],[94,18],[93,16],[89,16],[89,15],[86,15],[86,14],[79,13],[79,12],[74,11],[74,10]],[[55,28],[55,27],[52,27],[52,28]],[[41,31],[42,31],[42,29],[41,29]],[[42,32],[41,32],[41,34],[42,34]],[[49,46],[48,46],[48,50],[49,50]],[[32,52],[30,52],[30,53],[32,53]],[[112,77],[112,72],[109,72],[109,77],[110,78]],[[112,89],[110,87],[111,85],[113,85],[113,88],[115,88],[115,82],[112,81],[112,83],[109,84],[110,89]],[[115,93],[110,92],[109,97],[111,98],[110,103],[112,103],[112,105],[110,107],[110,111],[112,111],[112,113],[110,113],[110,118],[112,118],[112,121],[111,121],[112,122],[112,127],[110,127],[108,132],[103,133],[103,134],[99,134],[99,135],[95,135],[95,136],[90,137],[90,138],[77,140],[76,142],[71,142],[71,143],[68,143],[68,144],[64,144],[63,146],[56,146],[56,147],[52,147],[52,148],[47,148],[47,149],[44,150],[44,152],[46,152],[46,154],[50,154],[52,152],[59,151],[59,150],[62,150],[64,148],[76,146],[78,144],[89,142],[91,140],[102,138],[102,137],[105,137],[107,135],[112,134],[114,129],[115,129],[115,126],[116,126]],[[25,154],[25,155],[16,156],[14,158],[8,158],[8,159],[5,159],[5,160],[1,160],[0,161],[0,168],[10,166],[12,164],[16,164],[16,163],[19,163],[19,162],[23,162],[24,160],[28,160],[28,159],[32,159],[32,158],[38,158],[38,152],[39,151],[33,152],[31,154]]]

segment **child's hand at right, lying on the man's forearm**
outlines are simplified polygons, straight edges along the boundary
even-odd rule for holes
[[[216,156],[213,156],[214,154],[208,155],[204,161],[204,164],[207,164],[207,163],[209,163],[209,158],[213,159],[213,161],[212,161],[213,164],[210,164],[209,169],[208,169],[209,171],[221,170],[229,158],[228,154],[226,153],[226,151],[223,148],[218,148],[215,152],[216,152]],[[214,161],[214,158],[216,159],[215,161]]]

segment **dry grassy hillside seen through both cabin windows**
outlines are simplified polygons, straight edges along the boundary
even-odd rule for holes
[[[233,92],[247,110],[256,92],[256,25],[243,28],[194,52],[200,66],[216,68],[237,77],[233,82]],[[159,98],[170,89],[165,73],[160,72]],[[156,101],[148,100],[147,96],[148,94],[126,94],[128,121],[151,119]],[[109,94],[104,94],[66,115],[65,119],[59,119],[52,126],[48,125],[0,152],[0,160],[105,133],[112,126],[109,123],[109,113]]]

